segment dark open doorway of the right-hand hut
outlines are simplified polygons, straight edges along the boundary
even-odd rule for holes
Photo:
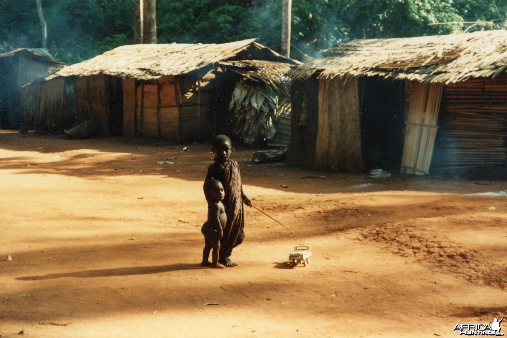
[[[403,153],[404,82],[359,79],[361,145],[365,170],[400,169]]]

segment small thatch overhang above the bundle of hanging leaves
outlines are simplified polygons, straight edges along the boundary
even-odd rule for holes
[[[249,84],[260,84],[268,90],[289,96],[291,78],[285,74],[296,64],[301,62],[294,60],[293,64],[266,60],[239,60],[221,61],[219,65],[228,68],[240,76]]]

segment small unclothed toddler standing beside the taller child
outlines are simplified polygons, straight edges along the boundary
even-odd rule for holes
[[[225,197],[222,183],[216,179],[207,180],[204,182],[204,195],[208,202],[208,220],[201,229],[205,242],[201,265],[203,267],[225,268],[219,263],[220,240],[224,237],[224,228],[227,223],[227,216],[222,204]],[[213,249],[213,252],[210,263],[208,258],[211,249]]]

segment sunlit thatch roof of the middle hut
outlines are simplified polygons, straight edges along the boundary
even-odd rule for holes
[[[120,78],[155,80],[163,76],[177,76],[234,58],[261,58],[295,63],[255,39],[226,44],[145,44],[115,48],[90,60],[61,69],[55,77],[106,74]]]

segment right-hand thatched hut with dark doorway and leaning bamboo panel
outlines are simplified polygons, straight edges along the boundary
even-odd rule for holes
[[[357,172],[399,152],[393,161],[416,174],[505,164],[506,69],[505,30],[340,45],[288,73],[293,97],[318,102],[301,127],[293,99],[293,135],[311,141],[299,132],[288,161]]]

